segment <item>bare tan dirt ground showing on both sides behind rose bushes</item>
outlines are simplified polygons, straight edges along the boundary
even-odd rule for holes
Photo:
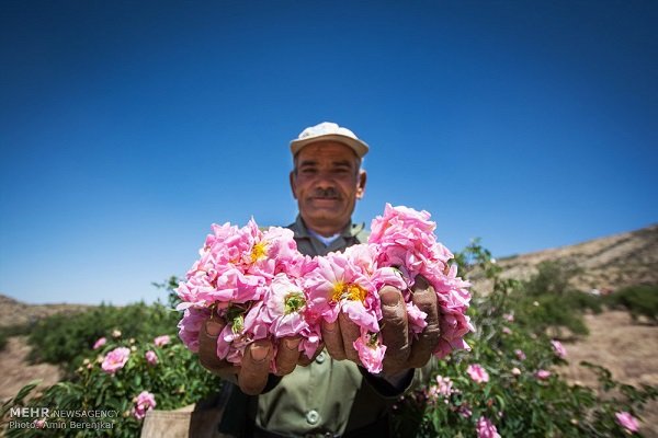
[[[595,387],[595,376],[578,365],[587,360],[611,370],[617,381],[658,385],[658,326],[634,323],[625,312],[587,315],[586,321],[590,335],[583,341],[565,344],[569,366],[559,370],[564,377],[571,382]],[[55,366],[27,365],[29,350],[24,337],[13,337],[0,351],[0,403],[15,395],[31,380],[44,379],[42,385],[59,380],[60,373]],[[658,438],[658,402],[653,402],[645,412],[642,433]]]

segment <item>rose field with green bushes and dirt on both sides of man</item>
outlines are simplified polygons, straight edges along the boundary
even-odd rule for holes
[[[525,279],[509,278],[478,242],[453,263],[474,285],[467,311],[474,332],[464,338],[470,349],[443,357],[426,387],[395,404],[397,436],[657,436],[656,287],[582,293],[569,286],[577,273],[548,262]],[[220,381],[179,338],[179,284],[172,277],[157,285],[163,297],[154,304],[100,306],[45,315],[30,328],[3,327],[2,355],[25,356],[0,359],[14,384],[2,394],[5,436],[135,437],[149,410],[215,393]],[[46,380],[16,387],[37,376]],[[103,419],[110,430],[93,416],[76,418],[89,425],[76,429],[53,428],[63,419],[53,415],[10,427],[16,408],[44,406],[116,416]]]

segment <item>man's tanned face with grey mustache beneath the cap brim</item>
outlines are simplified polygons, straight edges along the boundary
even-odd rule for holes
[[[295,158],[291,187],[299,215],[322,235],[340,232],[365,189],[365,171],[352,149],[336,141],[305,146]]]

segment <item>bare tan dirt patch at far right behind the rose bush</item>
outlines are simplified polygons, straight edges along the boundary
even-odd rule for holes
[[[589,336],[565,344],[568,367],[559,370],[569,381],[597,387],[597,376],[579,366],[587,360],[608,368],[614,380],[658,385],[658,326],[633,322],[626,312],[586,315]],[[647,406],[640,423],[646,437],[658,438],[658,401]]]

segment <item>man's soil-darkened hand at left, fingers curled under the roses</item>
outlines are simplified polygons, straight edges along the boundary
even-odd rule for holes
[[[259,339],[249,344],[240,366],[236,366],[217,357],[217,337],[226,323],[222,320],[206,320],[198,333],[198,361],[201,365],[223,379],[234,381],[240,390],[249,395],[260,394],[270,376],[270,362],[274,356],[274,345],[269,339]],[[298,350],[299,337],[284,337],[276,349],[276,374],[285,376],[297,365],[306,366],[313,360]],[[320,346],[316,354],[322,350]]]

